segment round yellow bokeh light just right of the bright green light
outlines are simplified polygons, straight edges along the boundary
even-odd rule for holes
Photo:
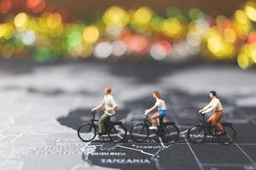
[[[84,42],[95,43],[100,37],[100,32],[96,26],[87,26],[83,31]]]

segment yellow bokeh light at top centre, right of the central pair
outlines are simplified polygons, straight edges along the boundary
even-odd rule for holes
[[[147,24],[152,17],[152,10],[148,7],[138,8],[134,14],[134,23],[139,25]]]

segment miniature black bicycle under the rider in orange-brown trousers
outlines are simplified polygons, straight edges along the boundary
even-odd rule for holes
[[[187,133],[191,143],[201,143],[206,139],[207,135],[217,137],[222,144],[230,144],[236,139],[236,130],[232,127],[232,123],[222,122],[221,125],[224,127],[224,132],[218,134],[217,128],[213,127],[210,122],[206,122],[205,115],[200,115],[202,116],[201,123],[190,127]]]

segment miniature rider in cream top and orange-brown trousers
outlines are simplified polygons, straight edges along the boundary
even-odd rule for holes
[[[207,122],[212,122],[212,125],[217,128],[218,134],[221,134],[223,133],[224,128],[219,122],[220,119],[223,117],[223,108],[219,99],[217,98],[217,93],[215,91],[210,91],[209,95],[210,99],[212,99],[211,102],[199,112],[201,114],[206,114],[207,112],[213,111],[212,116],[208,118]]]

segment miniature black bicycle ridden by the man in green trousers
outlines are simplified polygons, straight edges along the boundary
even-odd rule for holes
[[[96,138],[98,129],[98,126],[95,123],[98,122],[98,120],[95,119],[96,111],[91,112],[91,114],[92,119],[90,119],[90,122],[82,124],[78,129],[79,139],[84,142],[90,142]],[[108,141],[119,143],[125,140],[127,130],[123,125],[123,122],[111,122],[109,117],[109,120],[105,123],[105,127],[105,134],[108,135]],[[105,134],[102,135],[102,137],[106,136]]]

